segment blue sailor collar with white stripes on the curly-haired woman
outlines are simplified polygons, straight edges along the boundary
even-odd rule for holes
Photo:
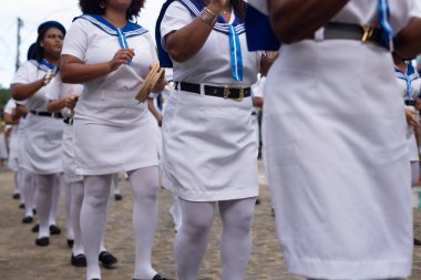
[[[97,27],[99,29],[103,30],[105,33],[110,35],[115,35],[119,37],[119,29],[114,27],[111,22],[105,20],[102,15],[100,14],[82,14],[78,18],[74,18],[73,21],[78,19],[84,19],[90,21],[92,24]],[[127,24],[125,24],[123,28],[120,29],[121,32],[124,33],[126,38],[129,37],[135,37],[135,35],[142,35],[146,32],[148,32],[147,29],[142,28],[141,25],[129,21]]]

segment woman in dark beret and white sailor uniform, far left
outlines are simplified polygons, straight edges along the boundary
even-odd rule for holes
[[[61,114],[47,112],[47,96],[53,71],[58,68],[65,30],[55,21],[38,29],[34,59],[25,62],[12,83],[12,95],[29,110],[22,138],[25,156],[22,167],[34,174],[37,211],[39,215],[38,246],[48,246],[51,224],[55,220],[63,170],[60,160],[63,122]],[[52,214],[52,215],[51,215]],[[54,216],[54,217],[53,217]]]

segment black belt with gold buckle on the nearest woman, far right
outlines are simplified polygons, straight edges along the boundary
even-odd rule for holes
[[[381,41],[381,29],[376,27],[361,27],[353,23],[329,22],[324,30],[321,40],[357,40],[372,42],[388,49]],[[316,39],[315,34],[306,39]]]

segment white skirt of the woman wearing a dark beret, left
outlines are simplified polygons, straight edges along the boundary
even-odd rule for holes
[[[63,172],[61,163],[64,123],[62,118],[29,113],[22,135],[22,167],[33,174]]]

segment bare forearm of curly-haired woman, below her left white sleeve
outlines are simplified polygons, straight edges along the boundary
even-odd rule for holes
[[[82,84],[101,77],[112,72],[110,62],[84,64],[73,62],[69,55],[62,55],[60,61],[61,80],[64,83]]]

